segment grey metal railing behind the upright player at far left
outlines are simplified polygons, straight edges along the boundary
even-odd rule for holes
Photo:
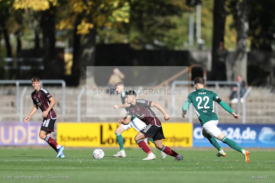
[[[41,87],[45,84],[62,84],[62,114],[66,114],[66,82],[64,80],[40,80]],[[20,114],[19,85],[31,84],[31,80],[0,80],[0,84],[16,85],[16,114]],[[23,94],[22,94],[23,95]]]

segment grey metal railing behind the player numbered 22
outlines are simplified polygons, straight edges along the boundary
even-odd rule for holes
[[[174,91],[175,87],[177,84],[182,84],[182,85],[188,85],[188,84],[194,84],[193,81],[173,81],[172,82],[172,87],[171,90]],[[238,103],[237,103],[237,114],[240,114],[240,83],[238,83],[237,81],[205,81],[206,85],[215,85],[216,90],[218,90],[219,85],[237,85],[237,97],[238,97]],[[171,98],[171,114],[175,115],[175,102],[176,102],[176,96],[172,95]],[[190,105],[191,106],[191,105]],[[190,107],[189,106],[189,107]],[[189,110],[189,122],[192,123],[193,122],[193,110],[191,109],[191,107],[188,109]],[[216,107],[216,113],[218,115],[218,107]]]

